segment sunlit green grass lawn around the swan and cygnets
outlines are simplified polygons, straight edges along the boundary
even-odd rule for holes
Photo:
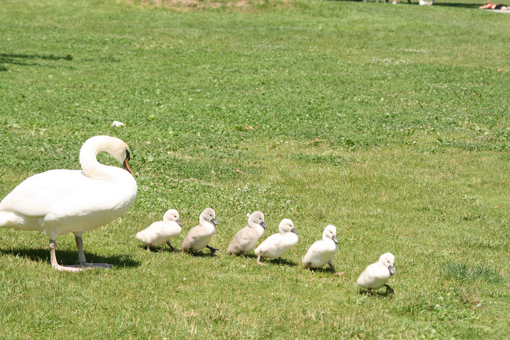
[[[0,198],[79,169],[101,134],[129,144],[138,183],[121,219],[84,234],[112,269],[57,272],[47,236],[0,229],[0,337],[507,338],[510,16],[474,0],[242,5],[0,2]],[[263,239],[290,218],[299,242],[259,267],[134,237],[172,207],[180,248],[207,206],[216,248],[254,210]],[[327,224],[341,277],[301,265]],[[57,241],[73,264],[72,234]],[[396,294],[360,293],[388,251]]]

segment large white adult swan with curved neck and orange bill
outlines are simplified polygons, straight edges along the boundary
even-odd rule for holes
[[[101,151],[110,153],[124,169],[97,162]],[[49,236],[52,267],[81,271],[88,264],[83,253],[82,233],[120,217],[133,204],[136,181],[129,168],[130,149],[118,138],[95,136],[80,150],[82,170],[49,170],[25,179],[0,202],[0,227],[39,230]],[[57,263],[56,238],[74,233],[78,265]]]

